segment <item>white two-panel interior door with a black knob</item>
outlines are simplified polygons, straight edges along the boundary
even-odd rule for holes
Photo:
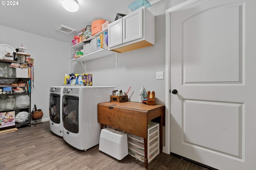
[[[255,8],[202,0],[170,12],[171,152],[220,170],[256,168]]]

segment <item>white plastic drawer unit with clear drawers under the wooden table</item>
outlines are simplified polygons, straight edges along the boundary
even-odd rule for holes
[[[148,163],[160,153],[159,124],[151,122],[148,126]],[[128,134],[128,153],[144,162],[144,138]]]

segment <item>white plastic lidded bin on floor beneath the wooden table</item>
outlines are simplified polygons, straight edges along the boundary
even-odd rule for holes
[[[113,128],[103,128],[100,132],[99,150],[122,160],[128,155],[127,134]]]

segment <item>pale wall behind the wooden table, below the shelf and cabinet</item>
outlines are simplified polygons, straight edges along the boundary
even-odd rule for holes
[[[112,55],[86,62],[86,73],[92,73],[93,85],[115,85],[128,93],[129,101],[139,101],[142,86],[155,91],[156,103],[165,103],[165,81],[156,79],[157,71],[165,71],[165,10],[167,1],[150,7],[155,15],[155,45],[117,54],[117,67]],[[152,35],[153,36],[153,35]],[[84,73],[81,63],[72,62],[74,73]]]

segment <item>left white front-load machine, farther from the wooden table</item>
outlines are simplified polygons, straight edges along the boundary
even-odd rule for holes
[[[62,93],[63,86],[50,87],[49,114],[50,130],[59,136],[63,136],[62,123]]]

